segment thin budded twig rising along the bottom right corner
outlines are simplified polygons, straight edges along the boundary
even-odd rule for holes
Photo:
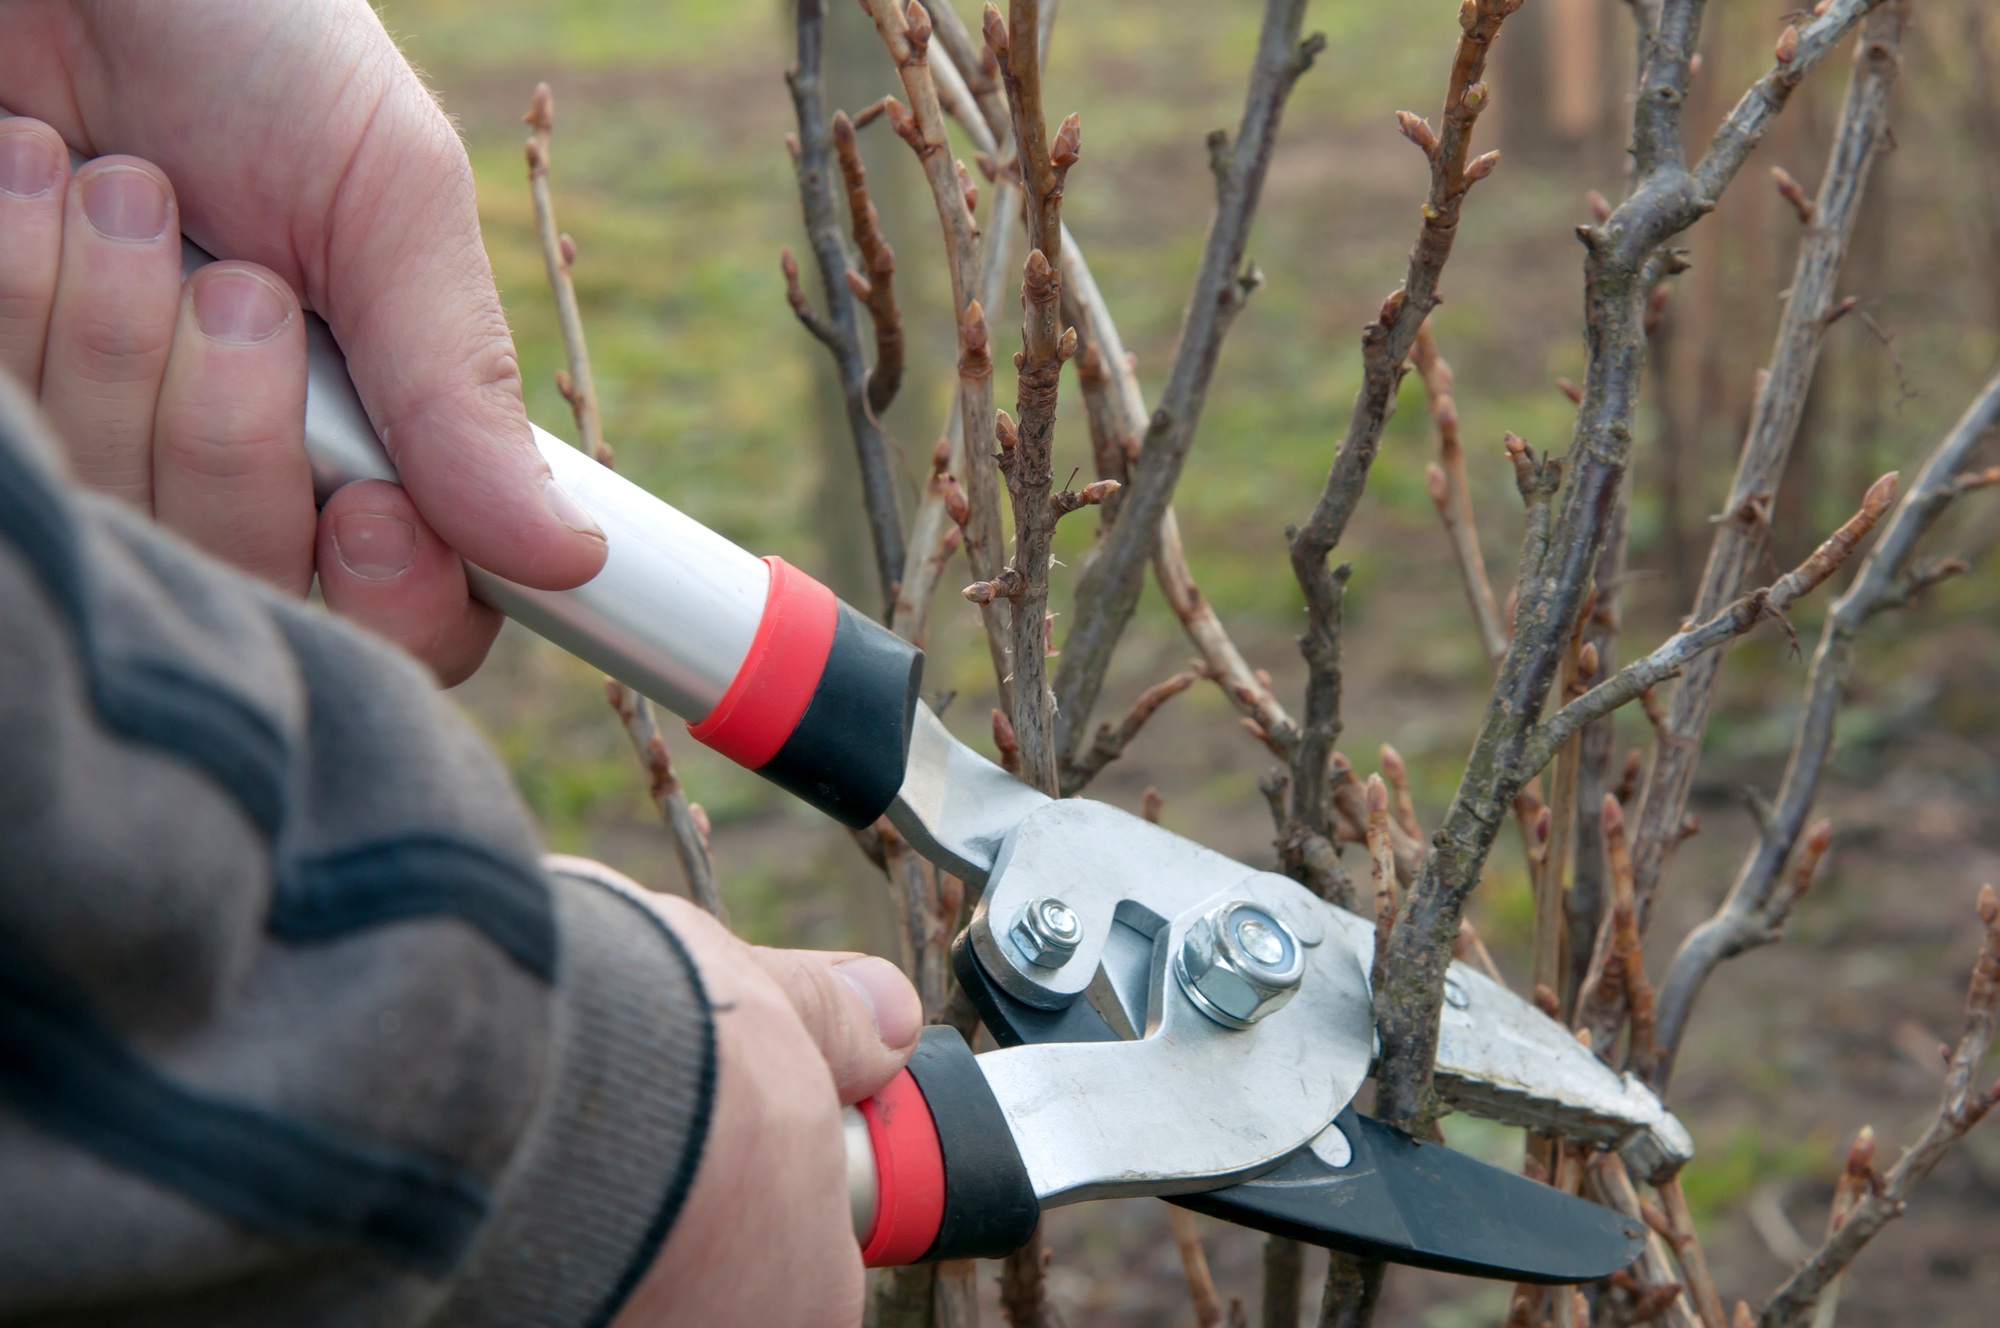
[[[1992,886],[1980,886],[1978,914],[1982,924],[1980,954],[1966,984],[1966,1018],[1944,1072],[1944,1096],[1938,1114],[1888,1176],[1870,1180],[1854,1200],[1852,1212],[1840,1222],[1806,1266],[1786,1278],[1758,1316],[1758,1328],[1794,1328],[1804,1324],[1812,1306],[1876,1232],[1904,1214],[1916,1186],[1922,1184],[1944,1154],[1966,1136],[2000,1102],[2000,1084],[1974,1084],[1986,1048],[1992,1042],[1994,1012],[2000,1008],[2000,896]],[[1868,1162],[1862,1160],[1866,1168]]]

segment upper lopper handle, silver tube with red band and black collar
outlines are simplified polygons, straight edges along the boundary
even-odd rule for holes
[[[184,242],[188,270],[212,262]],[[306,456],[320,502],[396,466],[328,326],[306,314]],[[846,826],[902,788],[924,654],[782,558],[758,558],[554,434],[534,444],[604,530],[604,570],[530,590],[466,564],[474,594],[688,720],[688,732]]]

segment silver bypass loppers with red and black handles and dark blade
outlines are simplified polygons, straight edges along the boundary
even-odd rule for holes
[[[188,244],[188,266],[208,262]],[[396,480],[328,328],[308,316],[306,450],[324,502]],[[1000,1050],[926,1030],[848,1116],[872,1266],[1000,1256],[1042,1208],[1156,1194],[1320,1246],[1472,1276],[1580,1282],[1644,1228],[1354,1108],[1374,1058],[1374,926],[1300,884],[1100,802],[1052,800],[946,732],[922,652],[780,558],[756,558],[548,432],[602,526],[576,590],[468,568],[476,594],[688,720],[834,820],[888,816],[978,890],[952,962]],[[1664,1180],[1694,1148],[1632,1076],[1462,964],[1436,1084],[1490,1120],[1616,1148]]]

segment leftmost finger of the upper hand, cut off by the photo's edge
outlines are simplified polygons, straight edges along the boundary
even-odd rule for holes
[[[20,116],[0,120],[0,370],[30,392],[42,382],[68,184],[70,154],[56,130]]]

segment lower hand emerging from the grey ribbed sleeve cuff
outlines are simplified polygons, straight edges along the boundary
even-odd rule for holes
[[[746,946],[684,900],[652,902],[716,1006],[720,1074],[694,1188],[612,1328],[854,1328],[840,1108],[908,1060],[916,990],[888,960]]]

